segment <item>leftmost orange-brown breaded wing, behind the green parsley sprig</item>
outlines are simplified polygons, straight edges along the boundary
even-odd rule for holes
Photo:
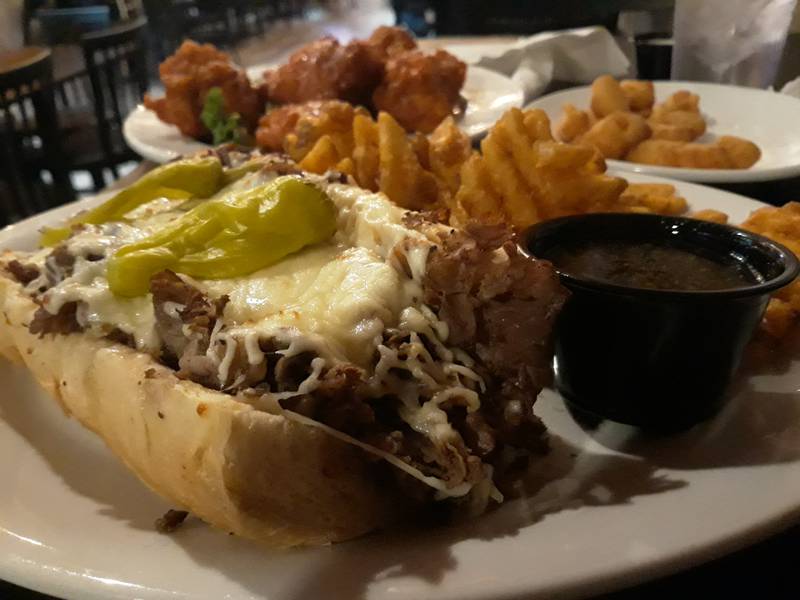
[[[175,125],[181,133],[206,140],[210,132],[200,115],[206,94],[212,88],[222,92],[225,112],[238,113],[241,123],[252,132],[264,105],[245,72],[231,58],[211,44],[185,41],[158,68],[164,84],[163,98],[145,94],[144,105],[165,123]]]

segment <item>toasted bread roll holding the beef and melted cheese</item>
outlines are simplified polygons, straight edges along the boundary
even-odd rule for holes
[[[402,506],[361,450],[319,429],[179,380],[119,344],[31,335],[36,305],[2,276],[0,310],[0,354],[24,362],[153,491],[220,529],[276,546],[324,544],[375,529]]]

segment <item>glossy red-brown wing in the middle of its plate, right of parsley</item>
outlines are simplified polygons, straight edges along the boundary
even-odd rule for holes
[[[297,104],[310,100],[346,100],[367,104],[383,66],[361,42],[340,44],[324,37],[303,46],[286,64],[264,73],[263,87],[271,102]]]

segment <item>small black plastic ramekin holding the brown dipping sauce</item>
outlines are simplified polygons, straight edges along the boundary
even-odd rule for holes
[[[682,217],[598,213],[539,223],[527,254],[547,259],[570,243],[633,241],[678,245],[742,261],[757,283],[725,290],[654,290],[559,271],[572,295],[555,333],[558,390],[589,414],[646,429],[676,431],[712,415],[770,294],[794,280],[797,258],[765,237]]]

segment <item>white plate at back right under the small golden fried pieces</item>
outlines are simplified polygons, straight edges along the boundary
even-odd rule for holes
[[[704,183],[768,181],[800,175],[800,136],[792,125],[800,123],[800,100],[797,98],[753,88],[693,81],[656,81],[655,90],[656,102],[678,90],[699,94],[708,131],[698,141],[711,141],[720,135],[743,137],[758,144],[761,159],[749,169],[685,169],[624,160],[606,161],[609,168]],[[590,100],[591,88],[585,86],[548,94],[528,108],[541,108],[555,123],[561,118],[564,104],[571,103],[585,110]]]

